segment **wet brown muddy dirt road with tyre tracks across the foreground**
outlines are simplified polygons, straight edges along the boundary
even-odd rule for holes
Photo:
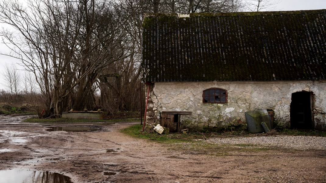
[[[136,123],[32,124],[0,116],[0,170],[51,171],[72,182],[326,182],[323,150],[211,156],[128,137]],[[47,131],[50,127],[95,131]]]

